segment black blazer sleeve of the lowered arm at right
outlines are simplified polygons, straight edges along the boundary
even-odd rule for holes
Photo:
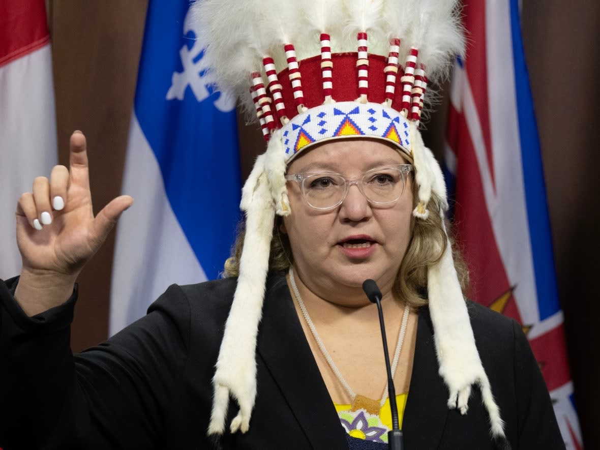
[[[520,449],[565,449],[550,394],[521,326],[513,321]]]

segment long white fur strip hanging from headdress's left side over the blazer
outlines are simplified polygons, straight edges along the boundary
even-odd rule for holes
[[[238,415],[230,425],[231,432],[248,431],[256,400],[256,337],[262,316],[275,218],[268,179],[264,170],[260,170],[264,166],[263,161],[264,158],[257,161],[257,172],[251,185],[247,186],[246,198],[242,200],[247,208],[246,239],[240,260],[238,286],[212,379],[214,398],[209,435],[223,434],[230,397],[239,404]],[[250,196],[251,199],[248,199]]]

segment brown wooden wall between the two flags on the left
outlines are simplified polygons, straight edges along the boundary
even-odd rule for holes
[[[59,161],[73,130],[88,138],[95,212],[121,191],[147,0],[50,0]],[[115,233],[85,266],[72,328],[75,350],[107,335]]]

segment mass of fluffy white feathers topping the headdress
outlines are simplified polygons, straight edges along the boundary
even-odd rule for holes
[[[286,67],[283,43],[293,43],[298,60],[319,55],[319,33],[331,35],[332,52],[356,52],[356,32],[368,32],[368,51],[386,56],[389,38],[401,39],[400,61],[410,46],[436,81],[452,56],[464,52],[457,0],[201,0],[193,6],[206,45],[203,65],[224,89],[244,99],[254,119],[248,74],[262,70],[262,58]],[[430,97],[428,94],[427,97]]]

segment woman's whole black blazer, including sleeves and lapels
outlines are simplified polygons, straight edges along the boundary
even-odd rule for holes
[[[143,319],[79,355],[69,349],[76,295],[26,317],[0,283],[0,447],[201,449],[211,379],[236,280],[171,286]],[[473,332],[513,449],[565,448],[550,397],[520,326],[469,303]],[[225,449],[346,449],[283,274],[269,277],[257,343],[257,398],[246,434]],[[404,444],[413,449],[492,449],[477,389],[469,412],[448,410],[433,328],[419,311]],[[228,423],[237,413],[232,401]]]

